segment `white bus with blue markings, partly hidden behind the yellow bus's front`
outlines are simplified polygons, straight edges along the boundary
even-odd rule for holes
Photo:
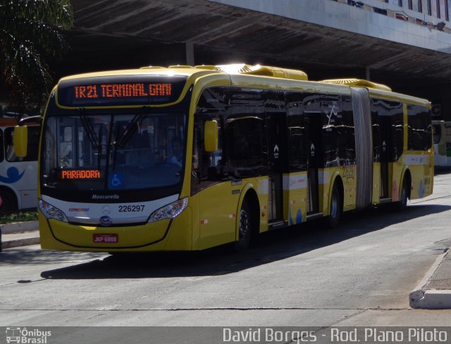
[[[0,214],[37,207],[37,153],[41,126],[36,121],[28,123],[27,156],[16,156],[13,149],[16,125],[18,118],[0,118]]]

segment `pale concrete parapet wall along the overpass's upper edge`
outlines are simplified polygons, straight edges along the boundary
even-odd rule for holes
[[[402,10],[410,16],[411,20],[419,17],[431,25],[416,25],[416,23],[396,19],[394,16],[384,16],[369,11],[368,8],[348,6],[331,0],[209,1],[451,54],[451,34],[438,31],[432,26],[442,20],[377,0],[361,1],[365,6],[387,9],[392,15],[391,12]],[[425,8],[424,11],[426,11]],[[451,25],[448,26],[451,27]]]

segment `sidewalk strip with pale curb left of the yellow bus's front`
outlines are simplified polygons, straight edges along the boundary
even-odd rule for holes
[[[26,221],[0,225],[0,243],[1,250],[39,244],[38,222]]]

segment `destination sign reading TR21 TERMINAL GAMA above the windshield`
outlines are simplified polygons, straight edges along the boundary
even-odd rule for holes
[[[121,75],[63,80],[58,85],[60,106],[127,106],[175,102],[185,86],[180,75]]]

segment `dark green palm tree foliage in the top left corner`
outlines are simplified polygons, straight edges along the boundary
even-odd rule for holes
[[[45,104],[49,60],[68,49],[62,30],[72,25],[70,0],[0,0],[0,82],[10,104]]]

